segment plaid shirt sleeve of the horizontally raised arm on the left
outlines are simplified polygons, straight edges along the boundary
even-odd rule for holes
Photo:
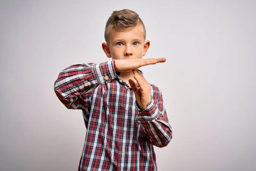
[[[90,92],[100,83],[116,77],[118,75],[113,60],[100,64],[74,64],[59,73],[54,83],[54,91],[68,109],[88,110]]]

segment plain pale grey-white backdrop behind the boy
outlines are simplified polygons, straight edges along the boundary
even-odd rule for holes
[[[151,46],[141,67],[162,89],[173,138],[159,171],[256,170],[256,1],[0,1],[0,170],[76,171],[86,128],[53,84],[108,60],[111,13],[136,11]]]

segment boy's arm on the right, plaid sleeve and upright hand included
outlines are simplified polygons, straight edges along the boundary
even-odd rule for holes
[[[132,71],[134,78],[140,85],[137,87],[135,82],[129,79],[136,98],[135,106],[139,111],[137,122],[142,125],[144,132],[148,135],[146,138],[148,143],[158,147],[167,146],[172,140],[172,127],[168,123],[162,93],[156,86],[151,86],[137,70]],[[154,90],[153,96],[151,95],[151,87]]]

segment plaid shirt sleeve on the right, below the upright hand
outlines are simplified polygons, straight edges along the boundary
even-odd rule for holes
[[[135,101],[135,107],[138,109],[137,122],[140,124],[146,135],[146,141],[157,147],[164,147],[172,140],[172,127],[169,125],[167,113],[163,106],[163,95],[159,91],[159,96],[152,98],[147,107],[142,110]],[[156,101],[156,103],[155,103]]]

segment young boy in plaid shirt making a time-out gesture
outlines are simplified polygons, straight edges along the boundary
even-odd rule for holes
[[[113,11],[102,49],[111,61],[61,71],[54,90],[68,109],[81,109],[87,128],[79,171],[157,171],[154,146],[172,139],[160,89],[138,68],[165,62],[142,59],[150,42],[139,15]]]

